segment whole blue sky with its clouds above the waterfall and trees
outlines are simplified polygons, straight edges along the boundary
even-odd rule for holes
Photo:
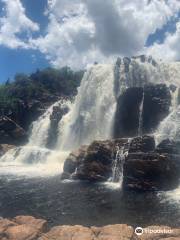
[[[0,82],[117,56],[180,59],[178,0],[0,0]]]

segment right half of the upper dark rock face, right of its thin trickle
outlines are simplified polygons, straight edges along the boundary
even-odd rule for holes
[[[143,133],[152,132],[169,114],[171,94],[165,84],[144,87]]]

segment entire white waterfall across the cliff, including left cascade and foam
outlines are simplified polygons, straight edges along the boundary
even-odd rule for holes
[[[59,173],[68,154],[66,151],[75,149],[81,144],[89,144],[93,140],[112,137],[116,99],[124,89],[132,86],[143,87],[146,83],[166,83],[180,87],[178,62],[154,64],[150,58],[146,58],[145,61],[141,61],[140,58],[131,59],[128,64],[121,61],[116,67],[117,79],[114,78],[114,70],[113,64],[95,65],[85,73],[78,95],[74,103],[69,105],[69,113],[59,123],[59,136],[54,151],[46,148],[53,105],[33,123],[28,144],[10,150],[0,159],[0,171],[5,170],[5,166],[10,169],[10,165],[22,168],[28,165],[29,169],[34,166],[35,172],[39,172],[43,166],[42,174],[47,171],[46,166],[48,169],[55,166],[50,172]],[[118,89],[115,89],[115,82],[118,83]],[[172,139],[180,136],[180,108],[175,102],[173,101],[171,113],[157,130],[156,136],[161,136],[161,139],[167,136]],[[140,106],[140,113],[142,112],[143,103]],[[140,128],[141,118],[140,116]]]

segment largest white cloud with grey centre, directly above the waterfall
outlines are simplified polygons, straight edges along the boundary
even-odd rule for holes
[[[178,0],[49,0],[47,34],[32,44],[56,66],[85,66],[146,52],[148,36],[180,10]]]

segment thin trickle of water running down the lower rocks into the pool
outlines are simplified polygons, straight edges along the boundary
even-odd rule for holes
[[[124,146],[116,146],[116,154],[112,166],[112,182],[118,182],[120,185],[123,181],[123,165],[125,161]]]

